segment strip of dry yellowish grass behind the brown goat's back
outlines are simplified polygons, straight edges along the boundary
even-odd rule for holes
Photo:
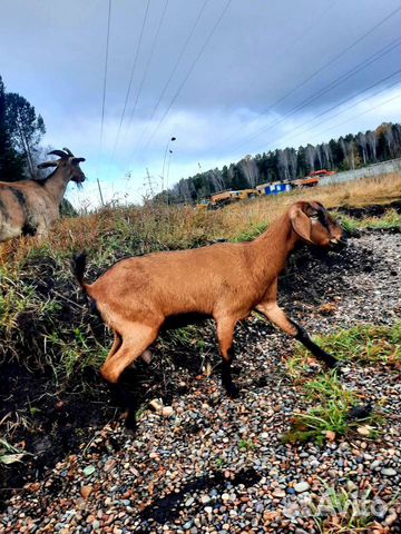
[[[315,199],[327,208],[389,204],[401,197],[401,174],[354,180],[346,184],[291,191],[274,197],[238,202],[217,211],[196,210],[190,206],[145,206],[101,209],[95,214],[61,219],[47,240],[16,239],[0,245],[0,266],[20,265],[27,256],[48,254],[67,256],[71,250],[89,249],[108,255],[118,241],[137,239],[143,251],[194,246],[207,239],[233,239],[263,229],[292,202]],[[147,244],[151,244],[147,246]],[[113,247],[111,247],[113,248]],[[12,258],[12,261],[11,261]]]

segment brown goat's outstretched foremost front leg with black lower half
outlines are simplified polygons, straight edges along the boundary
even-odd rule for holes
[[[256,310],[261,312],[268,320],[278,326],[278,328],[301,342],[302,345],[311,350],[313,356],[324,362],[329,367],[334,368],[339,366],[339,360],[312,342],[306,330],[292,319],[288,319],[277,303],[261,303],[256,306]]]

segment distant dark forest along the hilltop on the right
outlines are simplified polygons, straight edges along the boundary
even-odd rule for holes
[[[196,202],[224,189],[254,188],[276,180],[294,180],[319,169],[349,170],[401,157],[401,125],[385,122],[375,130],[349,134],[320,145],[245,156],[236,164],[183,178],[155,199]]]

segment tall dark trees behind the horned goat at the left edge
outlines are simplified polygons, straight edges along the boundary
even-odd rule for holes
[[[18,92],[7,92],[0,76],[0,180],[38,178],[45,121]]]

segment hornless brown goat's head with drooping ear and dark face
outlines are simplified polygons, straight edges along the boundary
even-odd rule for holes
[[[339,247],[345,244],[344,230],[317,202],[295,202],[288,210],[293,230],[305,241],[319,247]]]

